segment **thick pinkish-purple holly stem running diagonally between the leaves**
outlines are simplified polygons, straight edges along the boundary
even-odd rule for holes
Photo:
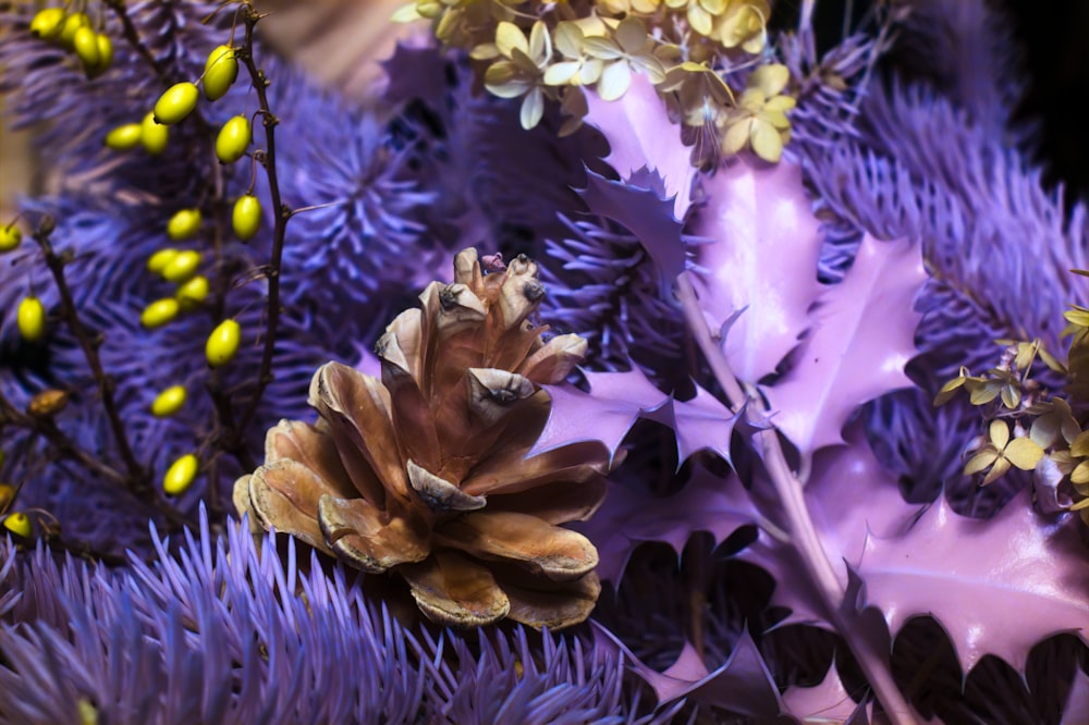
[[[684,310],[685,320],[696,337],[696,343],[703,353],[703,357],[707,358],[719,384],[722,385],[722,390],[730,398],[731,408],[739,415],[744,405],[751,402],[748,401],[744,389],[730,369],[730,362],[722,349],[711,337],[711,331],[707,327],[703,312],[696,299],[696,291],[688,279],[688,272],[682,272],[677,278],[676,294]],[[820,536],[817,533],[817,528],[813,526],[812,517],[806,505],[803,482],[791,470],[790,464],[783,455],[783,446],[779,442],[776,431],[773,428],[768,428],[757,432],[754,438],[760,448],[760,457],[768,476],[771,478],[779,502],[786,514],[791,541],[802,557],[810,581],[820,595],[829,620],[847,642],[867,680],[869,680],[870,687],[873,688],[874,695],[884,708],[890,722],[894,725],[914,723],[916,720],[914,712],[900,688],[896,687],[892,673],[885,664],[886,656],[878,651],[869,638],[861,636],[853,626],[851,610],[848,609],[847,613],[844,612],[843,603],[846,590],[821,544]]]

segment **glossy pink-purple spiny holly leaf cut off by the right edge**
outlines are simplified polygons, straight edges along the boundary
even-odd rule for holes
[[[872,537],[858,573],[893,631],[931,614],[964,672],[984,654],[1023,671],[1045,637],[1087,639],[1089,562],[1080,526],[1077,515],[1037,514],[1027,489],[989,520],[958,516],[943,497],[907,533]]]

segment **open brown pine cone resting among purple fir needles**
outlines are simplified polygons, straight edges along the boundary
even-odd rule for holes
[[[608,452],[526,454],[551,406],[539,385],[562,381],[586,341],[542,342],[547,327],[527,318],[544,287],[524,256],[484,274],[466,249],[454,277],[387,328],[381,380],[338,362],[317,371],[317,425],[270,429],[235,505],[365,572],[395,572],[440,624],[577,624],[601,589],[598,553],[558,525],[601,504]]]

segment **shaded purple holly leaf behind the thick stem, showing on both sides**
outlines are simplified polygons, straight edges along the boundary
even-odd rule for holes
[[[903,533],[919,515],[920,507],[904,502],[896,476],[873,455],[860,427],[847,431],[847,445],[819,451],[813,456],[806,504],[821,545],[846,590],[847,566],[857,566],[870,537]],[[757,481],[757,490],[770,489]],[[739,554],[767,569],[779,582],[772,604],[791,610],[786,624],[812,624],[828,627],[830,613],[790,542],[761,531],[756,543]]]

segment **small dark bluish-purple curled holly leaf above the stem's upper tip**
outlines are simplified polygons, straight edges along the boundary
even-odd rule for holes
[[[682,224],[673,218],[673,201],[650,188],[640,188],[586,172],[586,188],[579,196],[589,210],[626,228],[654,260],[664,290],[684,271]]]

